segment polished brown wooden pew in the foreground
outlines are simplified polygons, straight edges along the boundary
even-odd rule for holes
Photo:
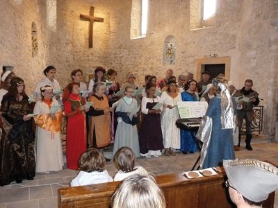
[[[163,189],[167,208],[215,208],[232,207],[228,189],[224,186],[225,174],[188,180],[183,173],[159,175],[156,182]],[[58,189],[58,207],[110,207],[111,196],[120,182],[92,184],[82,187]],[[275,192],[263,203],[263,207],[274,207]]]

